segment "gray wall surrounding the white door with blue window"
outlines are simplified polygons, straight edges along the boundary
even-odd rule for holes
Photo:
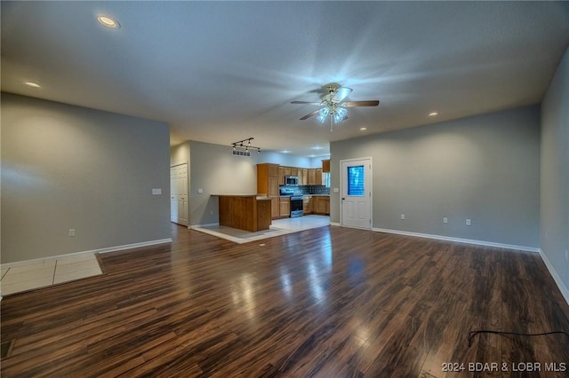
[[[538,106],[335,142],[331,153],[333,187],[342,159],[372,157],[374,228],[540,246]]]

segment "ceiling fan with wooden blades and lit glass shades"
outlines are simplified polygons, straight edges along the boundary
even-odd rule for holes
[[[322,97],[322,101],[292,101],[291,104],[313,104],[322,106],[312,113],[306,114],[301,120],[307,120],[313,115],[317,115],[318,122],[324,123],[328,115],[330,115],[330,131],[333,131],[333,123],[339,123],[348,119],[348,110],[346,107],[352,106],[378,106],[380,101],[377,99],[367,101],[344,101],[352,91],[351,88],[341,87],[339,84],[331,83],[325,85],[326,94]]]

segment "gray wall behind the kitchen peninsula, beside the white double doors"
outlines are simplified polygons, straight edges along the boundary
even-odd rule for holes
[[[260,146],[262,148],[262,146]],[[219,223],[218,199],[212,194],[257,193],[257,164],[270,162],[293,167],[322,167],[321,157],[305,158],[275,152],[234,156],[231,146],[184,142],[171,148],[171,164],[189,161],[189,224]],[[198,193],[202,189],[203,193]]]

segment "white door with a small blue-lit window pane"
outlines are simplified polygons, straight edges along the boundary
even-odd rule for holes
[[[372,159],[341,161],[341,225],[372,229]]]

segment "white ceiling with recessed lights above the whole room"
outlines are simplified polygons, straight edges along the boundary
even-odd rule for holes
[[[254,137],[301,156],[537,104],[569,44],[567,2],[2,1],[1,12],[2,91],[168,122],[172,144]],[[300,121],[317,107],[290,102],[318,101],[331,82],[380,106],[350,107],[333,132]]]

